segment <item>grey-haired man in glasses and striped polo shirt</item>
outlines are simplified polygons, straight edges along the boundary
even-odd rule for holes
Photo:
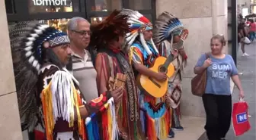
[[[68,35],[72,49],[72,63],[69,66],[72,66],[72,73],[80,83],[79,87],[86,101],[91,101],[98,98],[98,89],[97,72],[91,61],[91,54],[86,50],[91,37],[90,23],[82,17],[73,17],[68,23]]]

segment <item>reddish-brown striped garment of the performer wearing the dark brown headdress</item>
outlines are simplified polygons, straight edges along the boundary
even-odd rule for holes
[[[101,61],[101,64],[97,64],[98,60]],[[104,75],[104,79],[99,79],[99,85],[101,84],[101,80],[109,81],[110,77],[115,79],[117,73],[122,73],[126,76],[123,98],[117,110],[120,137],[125,140],[140,140],[142,132],[140,131],[141,125],[138,122],[139,107],[137,89],[133,69],[126,59],[126,55],[117,50],[102,49],[98,52],[95,66],[101,66],[101,70],[98,71],[99,77]],[[107,88],[110,90],[110,87]]]

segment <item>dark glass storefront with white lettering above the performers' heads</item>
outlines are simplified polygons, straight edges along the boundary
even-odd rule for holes
[[[155,0],[5,0],[8,25],[17,21],[40,20],[66,31],[72,17],[85,17],[91,23],[104,20],[114,9],[130,8],[155,20]]]

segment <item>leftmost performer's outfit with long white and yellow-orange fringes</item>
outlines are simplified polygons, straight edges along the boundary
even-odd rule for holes
[[[38,91],[42,92],[37,100],[40,102],[41,120],[37,128],[41,129],[35,130],[36,139],[118,138],[114,99],[109,92],[104,92],[99,98],[86,103],[78,89],[78,82],[68,70],[59,70],[55,65],[48,65],[40,71]],[[86,107],[89,117],[82,119],[79,107]]]

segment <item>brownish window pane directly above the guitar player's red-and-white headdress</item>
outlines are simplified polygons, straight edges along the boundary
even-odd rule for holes
[[[152,9],[152,0],[129,0],[130,8],[133,10]]]

